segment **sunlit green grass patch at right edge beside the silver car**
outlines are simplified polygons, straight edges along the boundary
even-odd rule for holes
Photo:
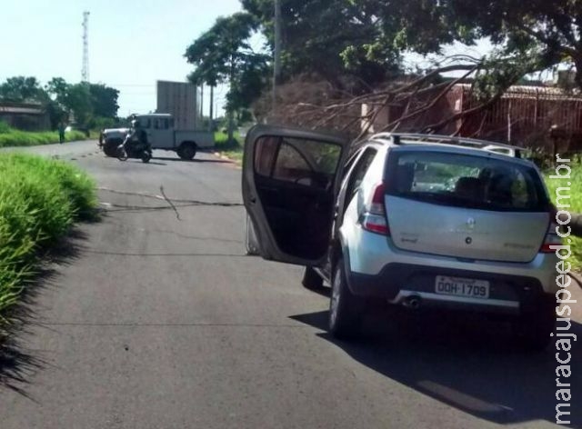
[[[572,167],[572,175],[570,179],[550,179],[550,175],[556,175],[555,170],[547,171],[546,184],[552,198],[552,202],[557,204],[556,191],[559,187],[567,187],[570,182],[570,190],[562,190],[561,195],[570,195],[570,208],[565,208],[570,213],[582,213],[582,165],[570,165]],[[568,204],[567,200],[562,200],[562,204]],[[577,270],[582,270],[582,238],[572,237],[571,244],[572,252],[572,266]]]

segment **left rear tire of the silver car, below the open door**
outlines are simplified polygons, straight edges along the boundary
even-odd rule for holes
[[[329,300],[329,333],[337,339],[356,339],[362,334],[362,316],[366,301],[352,294],[347,286],[344,260],[334,267]]]

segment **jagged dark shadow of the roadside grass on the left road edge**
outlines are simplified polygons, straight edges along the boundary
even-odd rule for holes
[[[35,312],[38,297],[44,290],[58,287],[55,283],[58,267],[73,264],[79,257],[79,243],[85,240],[85,234],[75,229],[64,240],[55,244],[49,252],[43,254],[43,262],[34,281],[26,284],[19,303],[5,315],[10,324],[4,330],[0,330],[0,392],[5,388],[34,401],[34,398],[26,393],[26,385],[30,383],[30,378],[48,366],[48,363],[39,357],[42,351],[31,351],[26,348],[23,337],[28,334],[31,326],[43,326]]]

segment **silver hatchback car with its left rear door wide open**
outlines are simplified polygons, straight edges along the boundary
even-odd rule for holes
[[[561,244],[536,165],[472,139],[335,135],[258,125],[246,140],[246,210],[263,257],[332,286],[329,330],[360,332],[369,304],[507,317],[543,349],[556,324]]]

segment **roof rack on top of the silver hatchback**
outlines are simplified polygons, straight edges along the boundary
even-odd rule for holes
[[[457,137],[451,135],[425,135],[412,133],[378,133],[372,135],[371,140],[388,140],[392,145],[405,145],[406,143],[427,143],[437,145],[458,145],[476,147],[489,152],[496,152],[505,155],[521,158],[526,150],[523,147],[505,145],[503,143],[487,142],[475,138]]]

